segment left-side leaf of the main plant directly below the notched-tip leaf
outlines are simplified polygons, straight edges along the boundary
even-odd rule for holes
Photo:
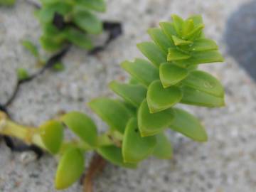
[[[129,85],[112,81],[110,82],[110,88],[134,107],[139,107],[146,97],[146,88],[142,85]]]

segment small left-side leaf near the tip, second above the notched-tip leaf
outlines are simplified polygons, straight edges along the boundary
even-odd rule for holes
[[[160,28],[149,28],[149,36],[153,39],[159,48],[163,49],[165,53],[168,53],[169,48],[174,48],[174,43],[161,31]]]

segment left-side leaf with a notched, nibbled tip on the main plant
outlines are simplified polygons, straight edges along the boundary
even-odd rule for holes
[[[124,61],[121,65],[133,78],[146,87],[152,81],[159,79],[159,70],[147,60],[136,59],[134,62]]]

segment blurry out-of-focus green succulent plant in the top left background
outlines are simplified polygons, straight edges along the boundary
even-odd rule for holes
[[[49,51],[67,43],[91,50],[90,34],[102,32],[102,21],[93,11],[104,12],[104,0],[41,0],[36,16],[43,28],[41,45]]]

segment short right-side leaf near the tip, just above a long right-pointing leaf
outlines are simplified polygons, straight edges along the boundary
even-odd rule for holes
[[[193,41],[191,50],[193,50],[193,51],[218,50],[218,46],[211,39],[198,38],[195,41]]]

